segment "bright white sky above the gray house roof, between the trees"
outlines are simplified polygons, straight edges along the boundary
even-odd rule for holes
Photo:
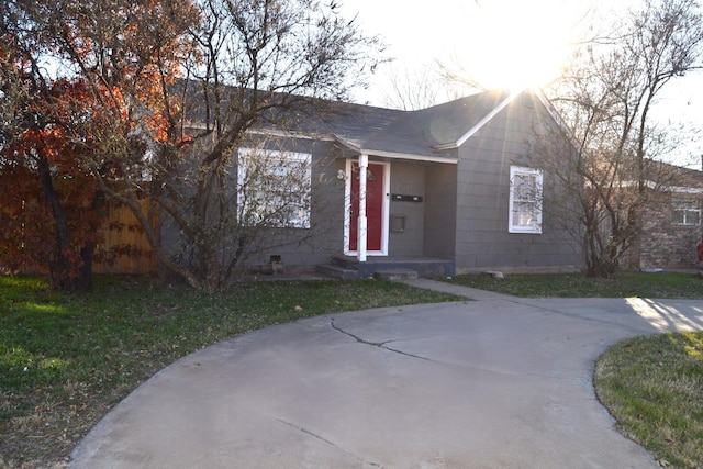
[[[638,0],[629,0],[636,2]],[[489,88],[539,86],[559,75],[578,41],[589,8],[612,14],[609,0],[344,0],[362,31],[389,46],[397,69],[459,60]],[[624,2],[618,1],[618,5]],[[390,68],[390,66],[388,66]],[[384,104],[389,71],[377,72],[357,101]],[[660,104],[662,120],[703,122],[703,75],[671,83]],[[702,146],[684,153],[700,154]]]

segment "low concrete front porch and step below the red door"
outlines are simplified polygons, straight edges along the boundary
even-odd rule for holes
[[[454,260],[428,257],[369,257],[361,263],[352,256],[334,256],[316,271],[339,279],[380,277],[388,279],[454,276]]]

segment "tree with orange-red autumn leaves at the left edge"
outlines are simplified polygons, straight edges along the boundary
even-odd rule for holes
[[[99,241],[97,177],[120,186],[126,168],[148,174],[148,145],[188,141],[169,88],[191,54],[185,33],[198,12],[180,0],[58,0],[41,14],[31,2],[15,7],[26,31],[42,34],[27,42],[22,29],[5,29],[0,46],[2,98],[22,91],[0,141],[0,267],[48,269],[60,281],[79,275]],[[64,60],[67,78],[36,67],[45,54]]]

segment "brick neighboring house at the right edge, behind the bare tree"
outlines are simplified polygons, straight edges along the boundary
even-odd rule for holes
[[[701,242],[703,172],[658,163],[670,185],[658,188],[644,216],[639,252],[632,267],[698,267],[696,246]],[[648,183],[654,187],[654,183]]]

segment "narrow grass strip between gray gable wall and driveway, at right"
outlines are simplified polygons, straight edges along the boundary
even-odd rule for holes
[[[515,297],[538,298],[681,298],[703,299],[703,278],[681,272],[620,272],[612,279],[588,278],[580,273],[507,275],[494,279],[486,275],[457,276],[453,283]]]

